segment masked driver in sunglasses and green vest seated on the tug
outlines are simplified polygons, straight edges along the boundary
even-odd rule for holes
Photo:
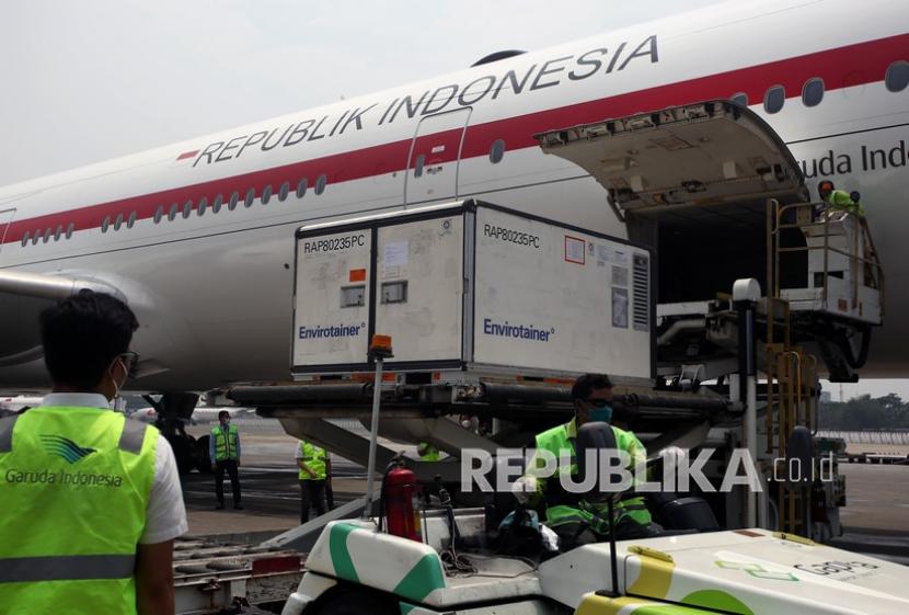
[[[575,458],[574,442],[580,425],[591,421],[608,423],[612,420],[612,383],[606,375],[585,374],[579,377],[572,387],[572,400],[575,418],[537,435],[537,448],[550,452],[556,459],[563,451],[568,451],[572,459]],[[632,465],[646,460],[644,445],[633,433],[615,426],[612,426],[612,431],[618,448],[629,454]],[[539,467],[537,458],[531,460],[531,467],[534,466]],[[563,549],[606,539],[610,526],[607,505],[590,504],[583,496],[561,489],[559,476],[564,471],[566,468],[559,468],[549,479],[525,476],[522,480],[530,479],[530,485],[536,487],[528,503],[532,506],[545,505],[546,525],[559,534]],[[577,465],[573,463],[567,471],[576,472]],[[652,526],[651,513],[642,496],[619,500],[614,513],[615,533],[620,538],[649,536],[658,527]]]

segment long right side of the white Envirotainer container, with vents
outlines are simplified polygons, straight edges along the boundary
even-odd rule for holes
[[[475,255],[475,363],[649,377],[649,323],[633,320],[649,282],[629,276],[629,258],[648,263],[646,251],[481,207]]]

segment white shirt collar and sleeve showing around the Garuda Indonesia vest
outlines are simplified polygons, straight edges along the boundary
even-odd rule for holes
[[[103,395],[91,392],[51,392],[45,396],[41,405],[110,410]],[[176,471],[176,459],[174,459],[170,442],[164,437],[158,439],[154,453],[154,482],[151,486],[146,512],[146,529],[139,538],[142,545],[166,543],[182,536],[189,528],[186,523],[186,508],[183,504],[180,475]]]

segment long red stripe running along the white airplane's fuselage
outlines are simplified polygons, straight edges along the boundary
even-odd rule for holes
[[[887,67],[893,61],[905,59],[907,47],[909,34],[900,34],[469,126],[464,135],[461,159],[488,155],[496,139],[504,139],[509,151],[537,147],[533,135],[545,130],[672,105],[726,99],[738,92],[746,93],[749,102],[753,104],[761,101],[767,89],[772,86],[782,86],[785,88],[786,96],[793,98],[801,95],[805,81],[812,78],[824,79],[828,92],[883,81]],[[439,136],[446,136],[446,133],[439,133]],[[264,186],[271,185],[277,192],[285,181],[290,183],[292,192],[300,178],[309,178],[312,183],[314,178],[325,174],[331,184],[400,171],[407,166],[410,146],[411,139],[399,140],[195,185],[16,220],[10,225],[4,242],[21,241],[26,231],[43,232],[46,228],[56,229],[58,225],[66,228],[74,224],[77,231],[97,228],[105,217],[114,219],[118,214],[127,217],[131,212],[136,212],[138,219],[151,218],[160,205],[163,205],[166,212],[173,203],[182,208],[187,201],[192,201],[195,207],[200,198],[206,197],[211,203],[218,194],[223,195],[227,201],[237,192],[242,200],[251,186],[255,189],[257,197]],[[440,161],[450,162],[456,157],[457,151],[451,148],[442,152]]]

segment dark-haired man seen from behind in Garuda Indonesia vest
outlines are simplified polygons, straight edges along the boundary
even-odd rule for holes
[[[108,407],[138,360],[137,327],[90,291],[41,315],[53,392],[0,419],[4,613],[174,613],[173,539],[187,525],[173,452]]]

